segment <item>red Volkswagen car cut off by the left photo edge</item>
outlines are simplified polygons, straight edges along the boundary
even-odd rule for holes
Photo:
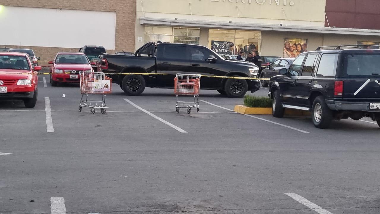
[[[41,66],[25,53],[0,53],[0,100],[23,100],[33,108],[37,101],[38,73]]]

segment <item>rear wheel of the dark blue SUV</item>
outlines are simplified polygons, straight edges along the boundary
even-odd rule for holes
[[[318,96],[315,98],[311,114],[315,127],[319,129],[325,129],[330,126],[332,120],[332,111],[327,106],[323,96]]]

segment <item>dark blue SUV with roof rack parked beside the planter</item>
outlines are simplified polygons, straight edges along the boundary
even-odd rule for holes
[[[272,115],[284,108],[311,111],[317,128],[331,120],[377,121],[380,126],[380,50],[360,45],[319,47],[300,54],[289,69],[269,81]]]

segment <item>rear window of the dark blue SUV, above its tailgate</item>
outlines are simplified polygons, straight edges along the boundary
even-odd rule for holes
[[[343,69],[350,76],[380,75],[380,54],[344,54]]]

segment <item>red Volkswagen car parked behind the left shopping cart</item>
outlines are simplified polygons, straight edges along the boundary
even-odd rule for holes
[[[79,83],[79,72],[93,72],[91,62],[84,53],[61,52],[55,56],[52,64],[50,83],[57,86],[57,83]]]

